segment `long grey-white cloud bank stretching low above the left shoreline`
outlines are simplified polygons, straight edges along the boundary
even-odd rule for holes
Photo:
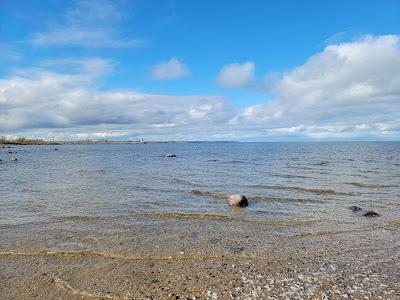
[[[94,81],[90,72],[18,70],[0,80],[0,131],[68,128],[73,134],[91,132],[97,138],[106,137],[104,132],[114,137],[115,132],[128,135],[151,130],[183,134],[185,130],[206,131],[234,115],[221,96],[99,91]]]

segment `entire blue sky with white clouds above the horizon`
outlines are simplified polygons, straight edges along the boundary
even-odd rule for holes
[[[400,140],[400,1],[0,0],[0,135]]]

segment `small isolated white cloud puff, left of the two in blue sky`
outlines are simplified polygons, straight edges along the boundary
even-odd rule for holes
[[[189,75],[190,71],[187,65],[175,57],[151,68],[151,77],[157,80],[173,80]]]

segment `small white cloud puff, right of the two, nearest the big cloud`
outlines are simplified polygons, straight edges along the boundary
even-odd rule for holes
[[[218,85],[226,88],[246,87],[254,80],[254,63],[230,64],[222,68],[217,76]]]

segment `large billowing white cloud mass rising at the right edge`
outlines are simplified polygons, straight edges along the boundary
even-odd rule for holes
[[[270,83],[269,90],[272,100],[245,108],[232,123],[263,125],[272,134],[398,134],[400,37],[330,45]]]

